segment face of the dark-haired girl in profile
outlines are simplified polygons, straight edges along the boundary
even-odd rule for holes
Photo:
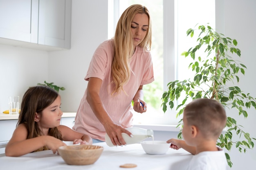
[[[49,130],[49,128],[55,128],[60,125],[62,114],[61,97],[58,96],[51,105],[42,111],[41,114],[36,113],[36,116],[39,118],[37,123],[44,132],[44,130]]]

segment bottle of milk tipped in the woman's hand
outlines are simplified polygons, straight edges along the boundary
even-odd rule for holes
[[[131,132],[133,136],[133,137],[130,137],[128,134],[122,133],[122,137],[124,138],[124,141],[126,141],[126,145],[133,144],[133,143],[140,143],[146,138],[154,136],[154,132],[151,129],[147,130],[147,129],[137,128],[137,127],[132,127],[132,128],[126,128],[126,130]],[[108,146],[115,146],[111,142],[107,133],[105,135],[105,141]]]

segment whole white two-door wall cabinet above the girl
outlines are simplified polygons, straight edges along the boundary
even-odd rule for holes
[[[70,49],[71,0],[0,0],[0,23],[2,44]]]

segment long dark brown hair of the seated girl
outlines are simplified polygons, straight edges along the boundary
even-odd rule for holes
[[[58,92],[50,87],[40,85],[29,87],[25,92],[20,109],[20,115],[17,126],[24,123],[27,128],[27,139],[31,139],[41,135],[38,123],[35,121],[36,113],[42,114],[42,111],[51,105],[58,97]],[[41,115],[42,116],[42,115]],[[49,136],[54,136],[62,140],[61,132],[57,127],[49,128]]]

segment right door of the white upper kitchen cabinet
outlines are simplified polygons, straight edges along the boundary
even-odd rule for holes
[[[71,0],[40,0],[38,44],[70,49]]]

